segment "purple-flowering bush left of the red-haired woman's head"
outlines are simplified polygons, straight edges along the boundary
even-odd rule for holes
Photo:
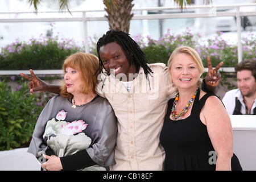
[[[65,57],[78,51],[81,51],[81,47],[74,40],[59,40],[58,36],[40,36],[28,42],[17,39],[15,43],[2,48],[0,69],[61,69]]]

